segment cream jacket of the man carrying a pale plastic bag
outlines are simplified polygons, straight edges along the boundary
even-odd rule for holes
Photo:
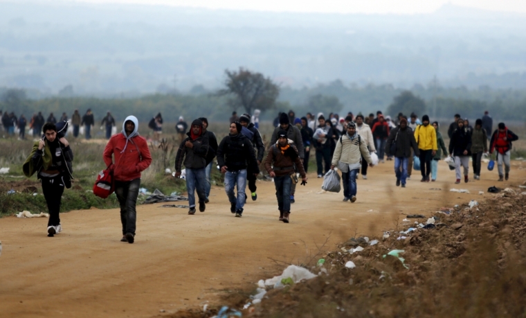
[[[356,137],[352,140],[347,134],[344,134],[336,142],[336,149],[334,149],[334,155],[332,156],[332,165],[338,166],[338,161],[343,162],[343,164],[359,164],[361,157],[368,164],[372,164],[367,144],[365,144],[365,141],[359,134],[356,134]]]

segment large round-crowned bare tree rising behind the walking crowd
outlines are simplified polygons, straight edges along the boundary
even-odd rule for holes
[[[219,96],[230,96],[228,100],[233,109],[243,107],[248,114],[254,109],[266,110],[275,105],[280,87],[262,73],[253,73],[243,68],[239,71],[225,71],[225,89],[218,91]]]

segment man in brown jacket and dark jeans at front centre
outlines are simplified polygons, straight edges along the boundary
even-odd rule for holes
[[[269,153],[265,159],[265,169],[274,178],[275,196],[278,199],[278,210],[280,211],[280,221],[289,223],[291,214],[290,192],[292,177],[296,177],[294,164],[300,171],[302,182],[307,182],[307,174],[303,168],[298,149],[287,138],[287,132],[278,132],[278,141],[271,145]]]

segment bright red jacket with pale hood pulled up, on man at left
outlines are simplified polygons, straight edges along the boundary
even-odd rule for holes
[[[135,124],[135,130],[129,136],[125,132],[126,121],[133,121]],[[111,136],[102,154],[106,166],[113,166],[116,181],[126,182],[138,179],[140,173],[152,164],[152,156],[149,153],[146,139],[139,136],[137,130],[137,118],[128,116],[123,121],[123,131]]]

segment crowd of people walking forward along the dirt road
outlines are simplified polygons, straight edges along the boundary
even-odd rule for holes
[[[510,150],[512,142],[518,137],[504,123],[499,123],[498,129],[489,138],[482,119],[477,119],[472,128],[460,116],[455,116],[449,146],[446,148],[439,132],[439,124],[437,121],[430,123],[427,115],[422,116],[419,121],[414,113],[410,119],[399,114],[397,125],[392,127],[390,123],[393,121],[388,123],[381,112],[378,112],[377,118],[368,118],[370,123],[377,120],[372,123],[373,129],[365,123],[361,114],[353,116],[349,113],[342,118],[343,121],[334,115],[337,116],[330,114],[326,121],[322,113],[316,119],[310,113],[302,118],[293,117],[293,112],[282,113],[267,148],[257,125],[253,123],[259,112],[257,116],[242,114],[236,117],[229,124],[228,135],[219,143],[215,134],[208,130],[207,118],[192,121],[190,130],[181,138],[175,158],[175,177],[180,177],[183,167],[185,168],[190,207],[188,214],[196,213],[197,204],[200,212],[206,210],[206,204],[210,201],[210,175],[215,158],[219,170],[224,174],[226,197],[230,203],[230,212],[235,217],[242,218],[249,196],[251,200],[257,200],[256,176],[260,174],[260,167],[264,167],[266,173],[273,178],[278,220],[284,223],[291,220],[291,204],[296,202],[294,195],[299,182],[298,175],[301,184],[307,184],[309,153],[312,148],[316,152],[318,177],[323,177],[336,167],[341,170],[344,202],[356,202],[356,179],[360,174],[363,179],[367,179],[368,168],[373,166],[372,154],[379,150],[394,160],[396,185],[403,188],[410,179],[412,161],[416,160],[413,157],[420,161],[421,182],[437,180],[437,163],[443,155],[454,158],[455,183],[460,183],[462,179],[461,168],[464,169],[464,182],[469,182],[470,156],[473,159],[474,179],[480,179],[480,161],[484,152],[496,152],[499,180],[509,178]],[[153,121],[154,127],[161,127],[161,114],[154,117]],[[338,125],[334,125],[334,122]],[[114,120],[107,117],[103,123],[114,124]],[[178,127],[179,125],[181,131],[188,127],[182,117],[177,123]],[[65,138],[67,127],[67,121],[45,123],[42,127],[42,139],[33,145],[23,167],[26,176],[36,173],[42,182],[42,192],[50,213],[48,236],[62,231],[59,218],[62,193],[64,188],[71,187],[73,179],[73,152]],[[379,130],[381,134],[375,134]],[[138,120],[135,116],[127,116],[122,131],[109,138],[102,158],[114,174],[123,234],[120,240],[133,243],[140,176],[152,163],[147,141],[138,133]],[[250,195],[246,193],[247,182]]]

